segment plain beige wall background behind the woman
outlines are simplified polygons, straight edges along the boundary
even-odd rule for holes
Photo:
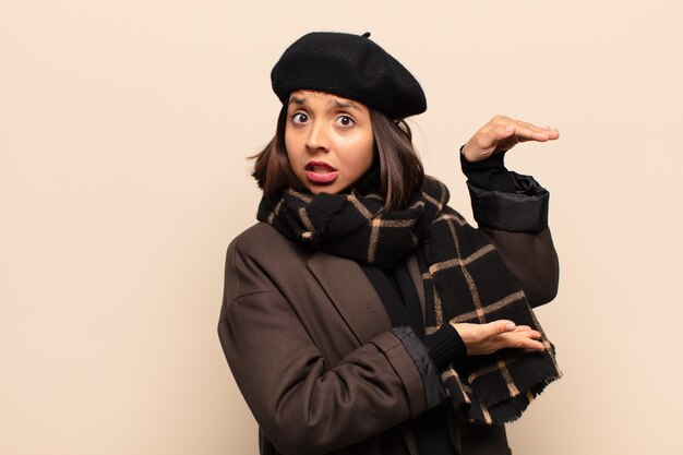
[[[0,454],[251,454],[216,336],[253,223],[268,74],[313,29],[421,81],[430,173],[498,112],[560,128],[508,166],[552,193],[539,316],[565,376],[516,454],[682,454],[683,11],[675,1],[0,2]]]

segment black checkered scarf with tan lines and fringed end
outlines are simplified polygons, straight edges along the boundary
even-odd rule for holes
[[[448,190],[426,178],[405,209],[384,211],[379,194],[317,194],[286,190],[264,197],[257,218],[292,241],[331,254],[388,266],[416,251],[426,295],[426,334],[450,321],[500,319],[542,334],[542,352],[502,349],[470,356],[441,371],[451,399],[467,420],[516,419],[546,385],[560,378],[554,347],[495,248],[446,205]]]

